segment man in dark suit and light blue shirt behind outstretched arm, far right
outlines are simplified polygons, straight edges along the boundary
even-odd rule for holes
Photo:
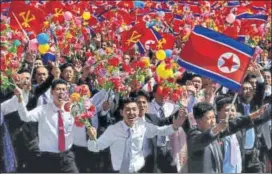
[[[258,105],[253,101],[253,87],[249,82],[245,81],[238,98],[237,111],[242,115],[249,115],[257,109]],[[265,125],[255,126],[252,129],[241,132],[241,138],[244,139],[241,151],[245,158],[243,166],[243,172],[245,173],[264,172],[265,159],[263,159],[263,156],[260,156],[260,149],[264,147],[267,149],[271,148],[270,130]]]

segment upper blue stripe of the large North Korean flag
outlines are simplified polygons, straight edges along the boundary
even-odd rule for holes
[[[222,43],[224,45],[228,45],[232,47],[234,50],[238,50],[240,52],[243,52],[249,56],[252,56],[254,54],[254,49],[251,48],[250,46],[237,42],[236,40],[227,37],[221,33],[215,32],[213,30],[201,27],[201,26],[196,26],[194,29],[194,32],[203,36],[206,36],[215,42]]]

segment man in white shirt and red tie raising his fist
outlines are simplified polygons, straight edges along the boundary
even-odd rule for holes
[[[66,92],[67,83],[61,79],[55,80],[51,86],[53,103],[41,105],[32,111],[27,111],[21,90],[17,89],[15,92],[19,101],[20,118],[25,122],[39,123],[40,172],[78,172],[74,154],[70,151],[74,118],[63,109]]]

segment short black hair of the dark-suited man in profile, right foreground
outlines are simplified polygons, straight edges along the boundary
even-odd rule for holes
[[[208,102],[199,102],[193,107],[195,119],[201,119],[208,111],[214,111],[214,107]]]

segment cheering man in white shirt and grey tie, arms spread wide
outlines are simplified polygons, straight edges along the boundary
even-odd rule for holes
[[[89,128],[88,149],[93,152],[110,147],[113,171],[139,172],[144,166],[143,140],[156,135],[170,135],[183,123],[181,118],[173,120],[173,124],[158,127],[138,119],[139,107],[135,100],[124,99],[120,105],[123,120],[109,126],[96,140],[96,129]]]

